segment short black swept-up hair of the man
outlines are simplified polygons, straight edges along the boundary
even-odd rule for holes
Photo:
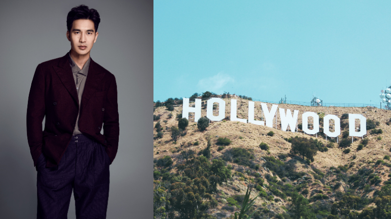
[[[72,8],[66,16],[66,27],[69,32],[72,28],[73,21],[77,19],[92,20],[95,26],[95,33],[98,31],[98,26],[101,22],[101,18],[99,17],[99,13],[97,10],[93,8],[89,9],[88,6],[84,4]]]

